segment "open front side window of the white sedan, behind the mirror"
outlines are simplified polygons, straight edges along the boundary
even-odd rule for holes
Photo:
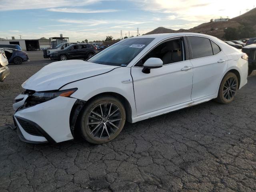
[[[161,43],[146,54],[136,66],[143,66],[146,60],[152,57],[160,58],[163,61],[163,65],[182,61],[182,40],[176,39]]]

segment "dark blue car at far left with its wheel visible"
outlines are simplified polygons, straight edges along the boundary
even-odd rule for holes
[[[3,48],[3,50],[9,63],[20,65],[22,64],[22,62],[28,60],[28,53],[25,51],[20,51],[12,48]]]

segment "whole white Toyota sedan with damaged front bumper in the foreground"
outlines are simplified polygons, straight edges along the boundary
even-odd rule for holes
[[[114,139],[126,121],[215,99],[234,100],[247,83],[247,55],[204,34],[154,34],[121,40],[87,61],[42,68],[15,98],[14,122],[25,142]]]

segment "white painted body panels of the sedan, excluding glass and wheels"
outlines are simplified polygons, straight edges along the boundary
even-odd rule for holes
[[[134,66],[164,40],[186,35],[210,38],[222,51],[215,56],[166,64],[151,69],[149,74],[142,72],[143,67]],[[23,88],[36,91],[78,90],[71,95],[72,98],[59,96],[20,110],[15,116],[35,122],[56,142],[61,142],[73,138],[69,115],[76,98],[87,101],[105,92],[120,94],[130,104],[132,122],[137,122],[216,98],[220,82],[229,70],[238,70],[241,78],[239,88],[247,83],[248,62],[241,58],[243,53],[218,38],[193,33],[155,34],[135,38],[155,39],[126,67],[82,60],[54,62],[45,66],[24,82]]]

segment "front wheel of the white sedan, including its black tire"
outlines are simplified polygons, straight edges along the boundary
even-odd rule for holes
[[[110,104],[112,107],[110,106]],[[92,113],[92,111],[96,112],[96,109],[99,107],[99,105],[100,105],[101,114],[103,114],[103,118],[99,118],[98,116]],[[108,112],[107,106],[108,107],[110,106],[109,112]],[[109,114],[110,114],[111,108],[112,108],[111,113],[113,113],[113,111],[116,110],[116,108],[114,107],[119,108],[119,110],[115,112],[118,115],[117,118],[120,118],[120,120],[115,119],[115,124],[116,126],[119,127],[118,129],[112,126],[114,122],[111,122],[111,120],[107,120],[107,119],[110,119],[108,117],[110,117]],[[97,112],[97,114],[100,113],[100,110],[99,112]],[[119,116],[119,114],[121,114],[121,116]],[[116,115],[113,115],[112,117],[114,116]],[[92,118],[93,119],[98,118],[94,121],[100,122],[100,123],[95,124]],[[97,97],[94,100],[90,101],[82,111],[81,118],[80,118],[80,132],[82,137],[90,143],[94,143],[94,144],[106,143],[116,138],[116,136],[118,136],[118,134],[122,131],[124,127],[125,120],[126,120],[126,111],[125,111],[124,105],[118,99],[114,98],[113,96]],[[106,125],[106,129],[104,125]]]

